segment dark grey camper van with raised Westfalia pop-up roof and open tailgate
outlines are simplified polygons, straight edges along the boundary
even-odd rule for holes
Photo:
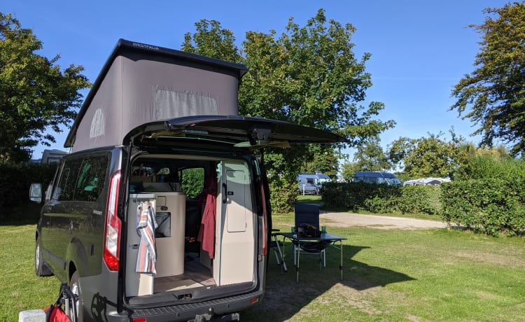
[[[78,321],[231,321],[265,293],[265,146],[336,134],[238,115],[246,67],[120,40],[45,192],[35,272]],[[71,312],[69,312],[71,314]]]

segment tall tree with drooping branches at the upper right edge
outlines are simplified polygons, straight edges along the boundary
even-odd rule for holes
[[[482,35],[477,69],[455,85],[451,106],[463,119],[479,126],[481,146],[502,139],[516,155],[525,151],[525,3],[486,8],[482,25],[470,25]]]

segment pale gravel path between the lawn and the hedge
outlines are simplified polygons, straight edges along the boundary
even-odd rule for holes
[[[447,224],[440,221],[426,221],[424,219],[402,218],[390,216],[349,214],[345,212],[321,211],[321,220],[328,219],[330,225],[338,227],[366,226],[377,229],[432,229],[447,228]]]

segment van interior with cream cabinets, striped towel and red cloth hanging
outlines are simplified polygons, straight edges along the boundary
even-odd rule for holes
[[[191,155],[142,155],[132,162],[127,239],[121,243],[130,302],[253,288],[258,230],[250,169],[244,159]],[[148,244],[144,219],[152,217]],[[151,249],[156,258],[148,265],[146,256],[144,265]]]

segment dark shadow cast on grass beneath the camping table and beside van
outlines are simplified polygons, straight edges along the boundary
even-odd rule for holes
[[[241,321],[286,321],[334,286],[342,286],[342,291],[347,288],[349,293],[359,293],[390,283],[414,280],[406,274],[370,266],[352,259],[353,255],[365,248],[369,247],[343,245],[344,275],[342,281],[340,280],[338,250],[328,248],[326,267],[321,270],[317,256],[302,257],[298,283],[295,279],[296,271],[290,247],[287,247],[287,253],[285,253],[288,272],[282,274],[281,268],[276,265],[272,251],[269,254],[265,297],[257,307],[241,311]]]

